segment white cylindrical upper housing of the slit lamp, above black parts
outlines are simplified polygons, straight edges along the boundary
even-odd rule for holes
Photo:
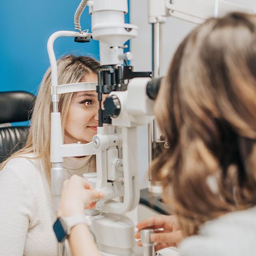
[[[92,0],[93,39],[99,40],[101,65],[121,65],[124,43],[137,36],[138,27],[124,23],[128,11],[126,0]]]

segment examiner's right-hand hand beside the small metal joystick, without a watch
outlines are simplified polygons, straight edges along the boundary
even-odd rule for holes
[[[175,216],[157,215],[145,219],[137,225],[139,229],[136,233],[135,238],[140,239],[140,230],[144,228],[158,229],[151,235],[151,241],[158,243],[155,245],[155,251],[161,250],[169,246],[177,246],[182,240],[182,233],[177,224]],[[138,241],[138,246],[142,246],[141,242]]]

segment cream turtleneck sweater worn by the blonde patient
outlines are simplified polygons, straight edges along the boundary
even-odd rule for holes
[[[26,157],[33,157],[27,154]],[[0,255],[55,256],[56,214],[51,190],[38,159],[11,159],[0,172]],[[65,179],[95,172],[95,157],[65,158]],[[70,252],[68,253],[70,255]]]

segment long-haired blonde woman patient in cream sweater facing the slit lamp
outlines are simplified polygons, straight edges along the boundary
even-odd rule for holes
[[[58,83],[97,82],[100,64],[90,57],[67,55],[57,61]],[[105,97],[105,96],[104,96]],[[56,219],[50,189],[51,70],[35,102],[26,146],[1,164],[0,255],[57,255],[52,224]],[[95,91],[62,94],[59,111],[64,143],[92,141],[98,126]],[[68,157],[65,179],[95,172],[95,156]]]

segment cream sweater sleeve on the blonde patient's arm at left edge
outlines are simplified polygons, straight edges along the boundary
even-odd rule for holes
[[[22,172],[22,170],[20,170]],[[0,172],[0,255],[23,255],[31,210],[29,188],[12,169]]]

